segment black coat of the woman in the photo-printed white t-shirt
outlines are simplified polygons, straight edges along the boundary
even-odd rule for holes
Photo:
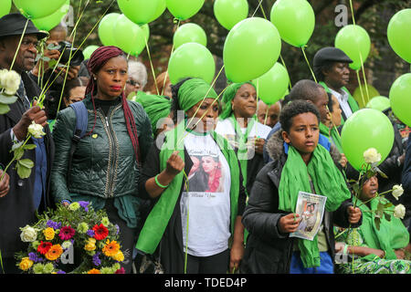
[[[142,174],[139,182],[138,195],[142,199],[150,199],[149,193],[145,190],[145,183],[160,173],[160,150],[153,145],[152,150],[148,153],[145,164],[142,168]],[[193,167],[193,162],[188,155],[188,152],[184,148],[184,172],[190,173]],[[238,165],[239,168],[239,165]],[[238,194],[238,211],[237,215],[240,216],[244,212],[246,204],[246,191],[243,187],[243,179],[240,171],[240,188]],[[174,212],[170,218],[170,221],[165,228],[162,241],[157,247],[156,255],[160,255],[160,261],[163,265],[166,274],[184,273],[184,245],[183,245],[183,227],[181,223],[181,211],[180,211],[180,199],[184,189],[184,182],[179,193],[177,203],[175,203]],[[153,199],[152,199],[153,200]],[[153,204],[157,200],[153,200]]]

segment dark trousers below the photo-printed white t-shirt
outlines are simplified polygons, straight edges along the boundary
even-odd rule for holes
[[[185,254],[184,254],[185,256]],[[187,274],[226,274],[230,250],[210,256],[187,255]]]

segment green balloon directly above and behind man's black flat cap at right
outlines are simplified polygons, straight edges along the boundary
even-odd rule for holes
[[[335,47],[341,48],[353,60],[350,68],[358,70],[361,68],[361,60],[365,63],[370,53],[371,40],[367,31],[358,25],[344,26],[335,36]]]

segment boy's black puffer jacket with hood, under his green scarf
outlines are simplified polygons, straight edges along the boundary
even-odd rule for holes
[[[279,233],[279,219],[288,214],[279,210],[279,180],[287,156],[283,151],[281,131],[268,141],[267,150],[273,159],[260,172],[248,198],[248,206],[242,222],[247,228],[248,242],[242,260],[241,272],[252,274],[290,273],[290,260],[294,237]],[[334,160],[335,161],[335,160]],[[334,258],[333,224],[348,227],[347,207],[351,200],[344,201],[333,213],[324,212],[322,223],[329,245],[329,254]],[[357,227],[361,224],[353,224]]]

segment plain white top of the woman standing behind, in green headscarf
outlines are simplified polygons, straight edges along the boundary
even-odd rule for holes
[[[241,128],[241,131],[244,134],[247,132],[247,128]],[[252,159],[255,155],[255,145],[254,141],[258,138],[267,139],[271,128],[269,126],[263,125],[258,121],[254,121],[252,128],[248,132],[248,160]],[[236,135],[236,130],[234,128],[233,122],[231,119],[218,120],[216,124],[216,132],[227,139],[227,141],[234,148],[238,148],[239,138]],[[238,156],[241,159],[241,157]]]

